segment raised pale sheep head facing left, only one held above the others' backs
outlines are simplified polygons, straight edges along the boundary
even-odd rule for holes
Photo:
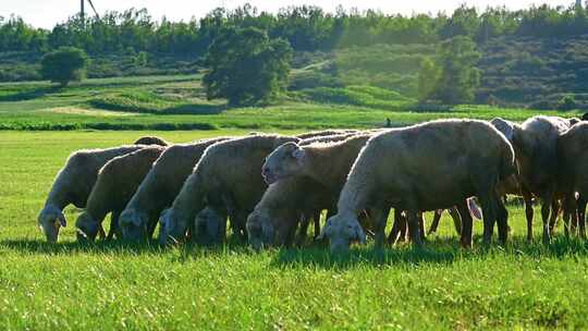
[[[275,148],[267,158],[261,174],[266,183],[298,174],[303,170],[305,150],[295,143],[286,143]]]

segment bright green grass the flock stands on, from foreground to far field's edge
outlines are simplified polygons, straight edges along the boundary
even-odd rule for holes
[[[242,133],[152,134],[179,143]],[[36,213],[66,156],[140,134],[0,133],[0,329],[588,328],[587,244],[525,243],[518,206],[510,207],[514,235],[505,248],[485,249],[479,237],[474,249],[458,248],[446,217],[422,250],[376,253],[369,244],[336,257],[310,245],[257,254],[232,240],[206,249],[83,246],[74,242],[73,208],[60,243],[44,243]]]

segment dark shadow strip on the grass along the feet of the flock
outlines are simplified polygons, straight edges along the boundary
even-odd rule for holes
[[[473,249],[464,249],[454,237],[429,240],[422,248],[413,248],[409,244],[396,247],[375,249],[371,245],[353,247],[350,252],[331,254],[324,244],[311,243],[303,248],[275,248],[270,266],[274,268],[313,267],[322,269],[347,269],[358,266],[382,267],[393,265],[451,265],[458,260],[487,259],[494,256],[512,256],[514,258],[564,258],[588,256],[588,242],[578,238],[555,237],[549,246],[540,241],[527,243],[524,237],[515,237],[506,246],[493,243],[490,246],[480,244]],[[96,243],[64,242],[50,244],[42,240],[11,240],[0,242],[0,247],[22,254],[33,255],[74,255],[74,254],[109,254],[109,255],[156,255],[174,253],[175,262],[192,261],[201,257],[222,257],[226,255],[256,255],[246,243],[230,236],[222,245],[200,246],[194,243],[163,247],[156,241],[146,243],[128,243],[123,241],[98,241]],[[264,253],[261,253],[264,254]]]

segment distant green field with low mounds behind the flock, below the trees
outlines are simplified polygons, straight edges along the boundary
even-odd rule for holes
[[[0,130],[303,130],[405,125],[440,118],[523,121],[577,112],[458,106],[419,109],[414,99],[378,87],[316,87],[279,105],[226,108],[206,100],[200,76],[87,79],[65,89],[48,83],[0,84]]]

